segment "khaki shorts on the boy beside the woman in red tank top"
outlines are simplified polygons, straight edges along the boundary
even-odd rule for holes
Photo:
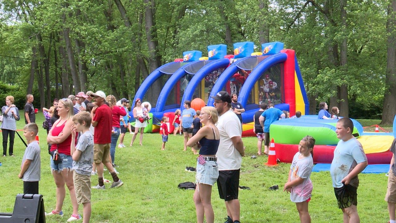
[[[91,203],[91,176],[73,171],[74,192],[78,204]]]

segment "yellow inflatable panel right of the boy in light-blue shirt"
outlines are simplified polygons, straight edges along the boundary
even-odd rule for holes
[[[386,152],[393,142],[393,136],[360,136],[358,141],[362,144],[365,154]]]

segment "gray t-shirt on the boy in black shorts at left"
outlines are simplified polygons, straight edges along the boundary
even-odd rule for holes
[[[31,160],[29,168],[23,174],[23,181],[40,181],[40,146],[37,141],[30,142],[27,145],[25,154],[23,155],[22,165],[25,160]],[[21,168],[22,168],[21,165]]]

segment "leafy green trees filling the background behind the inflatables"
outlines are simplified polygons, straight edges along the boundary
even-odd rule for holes
[[[341,115],[396,114],[394,1],[2,0],[0,81],[40,107],[79,91],[130,98],[184,51],[280,41],[295,50],[310,101]],[[392,44],[393,43],[393,44]],[[386,117],[386,119],[385,119]]]

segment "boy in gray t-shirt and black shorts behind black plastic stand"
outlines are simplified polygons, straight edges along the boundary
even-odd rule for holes
[[[23,180],[24,194],[38,194],[40,181],[40,146],[36,141],[38,127],[36,123],[29,123],[23,127],[23,136],[27,140],[27,147],[23,155],[19,179]]]

